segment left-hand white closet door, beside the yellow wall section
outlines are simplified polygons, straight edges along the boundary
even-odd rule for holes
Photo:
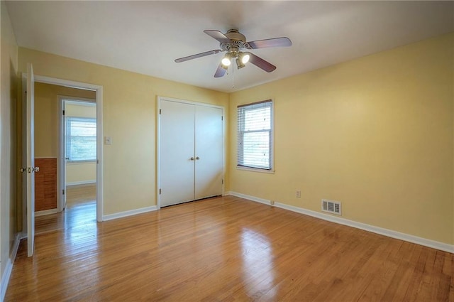
[[[162,101],[160,117],[161,206],[194,200],[195,106]]]

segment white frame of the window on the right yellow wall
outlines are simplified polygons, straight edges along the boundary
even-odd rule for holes
[[[268,131],[270,135],[270,144],[269,144],[269,165],[268,168],[260,168],[256,166],[247,166],[244,163],[240,163],[240,153],[243,153],[243,144],[241,144],[241,141],[243,140],[243,134],[245,133],[244,129],[240,129],[240,117],[239,117],[239,110],[240,109],[248,109],[248,107],[253,107],[254,105],[257,104],[263,104],[263,103],[270,103],[270,129],[264,129],[260,131]],[[241,104],[238,105],[237,107],[237,160],[236,160],[236,168],[238,170],[247,170],[247,171],[255,171],[255,172],[261,172],[261,173],[274,173],[274,132],[275,132],[275,125],[274,125],[274,101],[272,99],[267,99],[265,101],[260,101],[260,102],[254,102],[250,104]],[[255,132],[260,132],[260,131],[255,131]]]

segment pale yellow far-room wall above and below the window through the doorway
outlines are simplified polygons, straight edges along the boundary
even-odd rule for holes
[[[96,97],[96,93],[93,97]],[[66,104],[67,117],[92,117],[96,119],[96,107],[79,104]],[[80,183],[96,182],[96,163],[67,163],[66,184],[77,185]]]

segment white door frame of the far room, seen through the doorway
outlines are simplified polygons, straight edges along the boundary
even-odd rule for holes
[[[62,112],[66,108],[66,102],[81,102],[81,103],[90,103],[94,104],[96,107],[98,104],[96,103],[96,99],[89,99],[87,97],[69,97],[66,95],[58,95],[58,117],[60,119],[60,136],[59,136],[59,145],[60,148],[58,150],[58,161],[57,161],[57,209],[58,212],[61,212],[62,210],[65,210],[66,207],[66,191],[63,193],[63,190],[66,188],[66,159],[65,159],[65,153],[66,153],[66,135],[65,135],[65,130],[66,130],[66,114],[63,115]],[[97,122],[96,122],[96,127],[97,127]],[[96,133],[96,140],[98,139],[97,133]],[[97,183],[96,183],[97,185]]]

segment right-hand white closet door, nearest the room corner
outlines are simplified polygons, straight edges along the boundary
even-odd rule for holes
[[[222,194],[222,109],[196,106],[195,199]]]

